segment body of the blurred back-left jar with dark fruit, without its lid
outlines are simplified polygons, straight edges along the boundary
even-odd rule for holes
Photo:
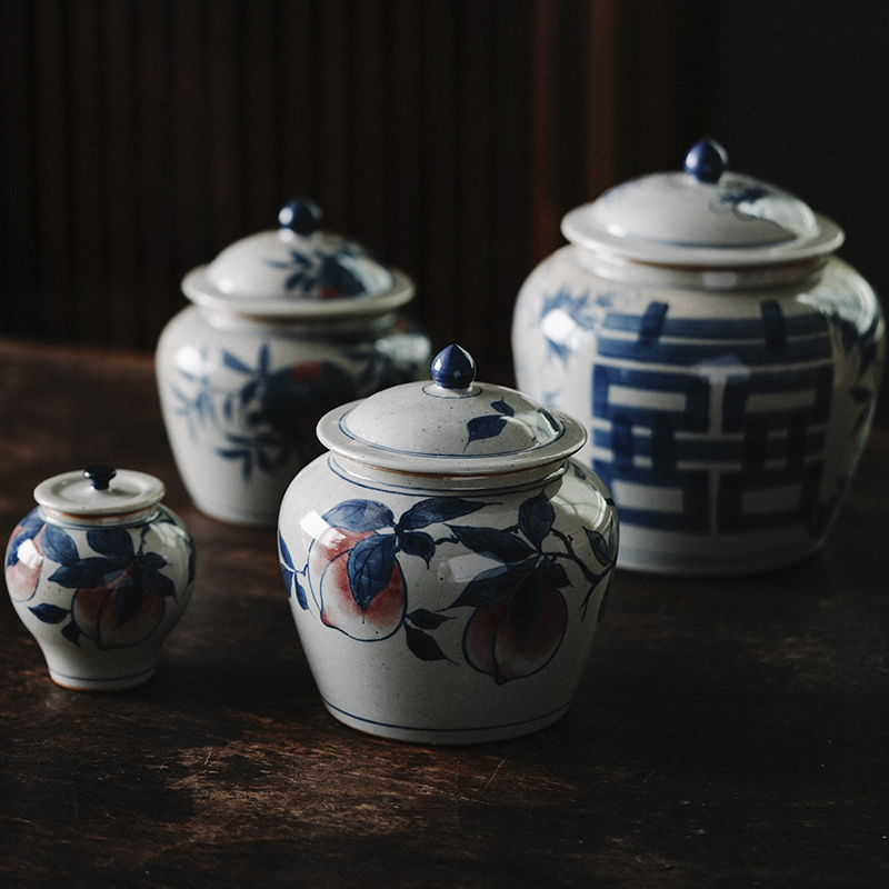
[[[336,404],[428,373],[429,340],[399,318],[313,323],[190,306],[157,350],[163,419],[194,505],[273,526],[293,476],[321,452]]]

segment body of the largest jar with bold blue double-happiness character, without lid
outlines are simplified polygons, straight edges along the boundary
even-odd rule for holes
[[[621,266],[569,244],[522,286],[518,387],[587,428],[578,459],[620,510],[621,567],[748,573],[825,542],[872,418],[883,321],[842,261],[790,272]]]

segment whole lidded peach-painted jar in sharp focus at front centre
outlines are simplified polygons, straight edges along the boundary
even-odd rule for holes
[[[475,382],[448,347],[432,382],[332,410],[330,449],[281,505],[279,551],[328,710],[422,743],[491,741],[561,717],[618,547],[608,490],[569,460],[582,427]]]

